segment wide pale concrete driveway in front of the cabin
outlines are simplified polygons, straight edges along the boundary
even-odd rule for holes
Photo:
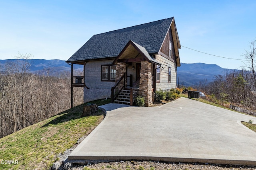
[[[105,119],[69,160],[157,160],[256,165],[256,117],[179,98],[159,107],[102,106]]]

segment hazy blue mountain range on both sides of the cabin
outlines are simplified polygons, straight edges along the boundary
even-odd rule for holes
[[[7,59],[0,60],[0,67],[2,68],[4,64],[15,62],[16,59]],[[21,61],[24,61],[21,59]],[[63,60],[44,60],[44,59],[30,59],[28,60],[30,63],[29,71],[32,73],[40,72],[44,69],[51,69],[52,75],[56,72],[70,71],[71,66],[67,64]],[[76,69],[82,70],[82,66],[74,64]],[[183,86],[192,86],[195,84],[199,84],[199,82],[211,82],[214,80],[214,76],[217,74],[222,74],[225,72],[226,68],[221,68],[216,64],[204,64],[204,63],[193,63],[186,64],[181,63],[180,67],[177,67],[177,84]]]

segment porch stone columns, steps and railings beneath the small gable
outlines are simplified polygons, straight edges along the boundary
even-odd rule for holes
[[[132,65],[132,64],[131,64]],[[126,63],[116,63],[116,84],[111,88],[111,102],[133,105],[138,95],[145,98],[145,106],[152,106],[152,92],[154,88],[154,76],[152,76],[152,64],[148,61],[140,61],[136,64],[136,78],[129,74],[129,66]]]

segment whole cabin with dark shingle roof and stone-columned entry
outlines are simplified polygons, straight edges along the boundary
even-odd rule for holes
[[[180,47],[173,17],[94,35],[66,61],[71,87],[84,88],[84,102],[111,97],[132,106],[140,94],[151,106],[156,90],[176,87]],[[83,76],[73,64],[84,66]]]

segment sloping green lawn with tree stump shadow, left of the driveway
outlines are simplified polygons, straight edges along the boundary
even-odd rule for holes
[[[100,106],[110,103],[110,99],[90,103]],[[82,117],[84,105],[0,139],[0,161],[18,161],[18,164],[0,164],[0,169],[49,169],[58,160],[59,153],[72,147],[80,137],[88,135],[104,118],[103,115]]]

